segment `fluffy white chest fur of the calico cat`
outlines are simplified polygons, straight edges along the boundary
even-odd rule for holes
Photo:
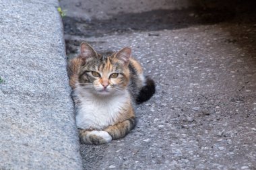
[[[77,97],[81,102],[77,105],[77,114],[75,116],[77,128],[102,130],[106,126],[117,122],[121,108],[129,100],[129,93],[125,91],[123,95],[96,97],[84,92]]]

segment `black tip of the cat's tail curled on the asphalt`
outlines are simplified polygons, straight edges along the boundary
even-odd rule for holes
[[[156,86],[154,81],[146,76],[146,82],[145,85],[141,88],[141,90],[139,91],[139,95],[137,95],[136,98],[136,103],[143,103],[144,101],[148,101],[148,99],[150,99],[152,97],[152,95],[154,95],[154,93],[156,92]]]

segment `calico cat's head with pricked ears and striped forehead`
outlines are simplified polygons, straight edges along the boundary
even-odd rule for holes
[[[82,59],[78,77],[79,87],[96,95],[123,93],[129,83],[130,56],[129,47],[110,56],[104,56],[98,54],[86,42],[82,42],[79,54]]]

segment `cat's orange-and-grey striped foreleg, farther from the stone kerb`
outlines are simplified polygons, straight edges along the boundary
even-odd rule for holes
[[[135,127],[135,117],[131,117],[123,122],[108,126],[104,131],[108,132],[113,140],[123,138]]]

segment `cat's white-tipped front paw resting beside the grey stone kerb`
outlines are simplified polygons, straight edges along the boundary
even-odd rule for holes
[[[105,131],[79,130],[80,141],[85,144],[105,144],[112,140],[112,137]]]

